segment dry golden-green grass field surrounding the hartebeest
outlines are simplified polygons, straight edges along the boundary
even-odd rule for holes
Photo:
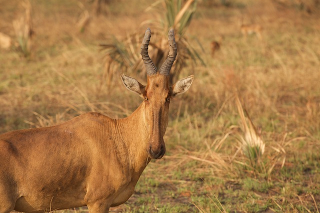
[[[19,0],[0,0],[0,32],[13,40],[0,49],[0,133],[89,111],[129,115],[141,99],[119,75],[145,77],[119,68],[106,83],[99,44],[143,35],[143,21],[161,16],[145,11],[151,3],[111,1],[106,15],[94,16],[87,0],[31,0],[34,33],[24,57],[12,27],[24,9]],[[91,16],[79,29],[84,10]],[[260,24],[262,39],[243,37],[241,22]],[[185,35],[206,65],[188,62],[182,69],[180,78],[195,80],[171,102],[165,156],[150,162],[134,195],[110,212],[318,213],[319,23],[317,0],[200,0]],[[219,36],[211,57],[210,42]],[[241,149],[237,97],[265,144],[253,161]]]

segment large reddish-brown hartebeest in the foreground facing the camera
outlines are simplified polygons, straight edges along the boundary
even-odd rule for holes
[[[185,92],[193,75],[168,85],[177,50],[173,30],[169,54],[157,71],[141,45],[147,84],[121,75],[124,86],[144,100],[128,117],[114,120],[86,113],[57,126],[0,135],[0,213],[38,213],[87,206],[107,213],[128,200],[150,159],[165,152],[163,135],[171,98]]]

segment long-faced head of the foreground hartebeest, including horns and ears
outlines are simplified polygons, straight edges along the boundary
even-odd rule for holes
[[[169,72],[177,54],[173,29],[168,33],[169,54],[159,71],[148,55],[150,37],[151,31],[147,28],[141,45],[141,55],[147,76],[146,86],[124,74],[121,75],[121,79],[127,89],[138,93],[144,99],[143,121],[149,136],[147,153],[152,159],[160,159],[165,153],[163,135],[168,124],[170,100],[175,95],[188,90],[193,81],[193,75],[169,86]]]

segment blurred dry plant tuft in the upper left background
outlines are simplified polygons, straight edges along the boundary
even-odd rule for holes
[[[29,57],[31,54],[31,37],[33,34],[30,0],[22,0],[21,5],[25,13],[20,18],[13,20],[12,25],[19,49],[24,57]]]

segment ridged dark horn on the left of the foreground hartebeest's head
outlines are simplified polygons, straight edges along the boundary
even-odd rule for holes
[[[145,65],[146,74],[147,75],[154,75],[156,74],[156,68],[151,60],[151,58],[148,55],[148,45],[151,37],[151,30],[150,28],[147,28],[144,33],[144,38],[141,45],[141,56],[142,60]]]

